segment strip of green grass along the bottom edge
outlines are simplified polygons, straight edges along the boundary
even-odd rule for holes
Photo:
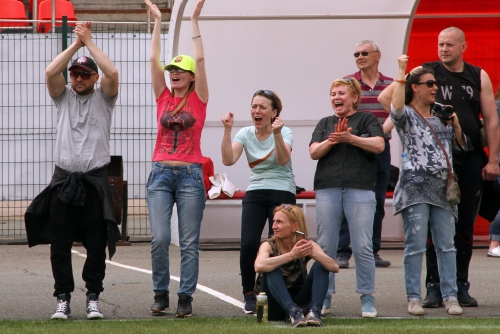
[[[154,320],[103,320],[103,321],[0,321],[4,334],[74,334],[74,333],[289,333],[307,331],[321,333],[498,333],[500,318],[446,318],[446,319],[335,319],[328,318],[321,328],[295,328],[290,324],[256,324],[255,318],[241,319],[154,319]]]

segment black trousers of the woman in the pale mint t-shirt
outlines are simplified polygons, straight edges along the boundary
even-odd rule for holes
[[[241,211],[240,270],[243,293],[255,287],[255,259],[262,230],[273,225],[274,209],[281,204],[295,204],[296,195],[282,190],[251,190],[245,193]],[[270,229],[270,235],[272,230]]]

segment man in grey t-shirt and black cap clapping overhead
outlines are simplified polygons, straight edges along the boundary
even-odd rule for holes
[[[87,288],[87,318],[102,318],[106,243],[110,258],[116,237],[107,179],[111,118],[118,96],[118,71],[90,34],[91,23],[79,23],[72,45],[47,67],[47,89],[57,111],[55,170],[50,185],[31,203],[25,222],[29,246],[50,243],[57,309],[52,319],[67,319],[74,291],[71,247],[81,240],[87,250],[82,277]],[[71,86],[62,71],[82,47],[90,57],[78,57],[69,68]],[[98,66],[103,72],[99,88]]]

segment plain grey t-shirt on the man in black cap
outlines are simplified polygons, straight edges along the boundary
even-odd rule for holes
[[[53,98],[57,110],[55,163],[70,172],[87,172],[110,161],[111,118],[118,94],[100,88],[78,95],[73,88]]]

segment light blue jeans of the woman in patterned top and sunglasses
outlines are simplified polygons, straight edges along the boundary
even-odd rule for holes
[[[437,265],[441,277],[441,295],[444,300],[457,296],[457,267],[455,216],[441,207],[422,203],[401,211],[405,230],[405,286],[406,296],[421,300],[420,278],[422,261],[426,251],[427,231],[430,227],[436,249]]]

